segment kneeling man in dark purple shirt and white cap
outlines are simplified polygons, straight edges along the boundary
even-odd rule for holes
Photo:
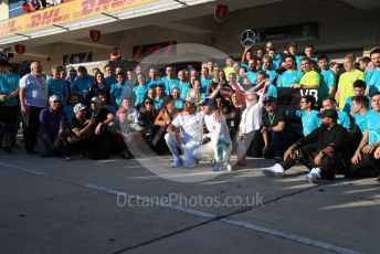
[[[70,160],[64,140],[66,125],[67,119],[62,110],[61,98],[56,95],[51,95],[49,97],[49,107],[40,113],[36,147],[41,157],[61,155],[63,151],[65,159]]]

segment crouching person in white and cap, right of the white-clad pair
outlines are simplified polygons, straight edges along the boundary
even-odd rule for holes
[[[223,170],[224,166],[226,166],[228,171],[231,171],[230,154],[232,144],[223,113],[215,110],[214,100],[212,98],[204,98],[201,106],[204,115],[205,128],[208,129],[208,134],[203,134],[202,138],[203,140],[209,138],[211,140],[198,147],[193,151],[193,157],[197,160],[215,161],[212,171]]]

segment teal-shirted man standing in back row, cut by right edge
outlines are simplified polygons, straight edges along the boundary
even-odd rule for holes
[[[368,85],[367,95],[380,92],[380,49],[371,50],[370,57],[373,63],[373,70],[369,71],[366,76]]]

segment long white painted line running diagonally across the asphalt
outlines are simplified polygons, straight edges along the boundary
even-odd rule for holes
[[[40,171],[33,170],[33,169],[27,169],[27,168],[19,167],[19,166],[15,166],[15,165],[0,162],[0,166],[6,167],[6,168],[10,168],[10,169],[14,169],[14,170],[19,170],[19,171],[23,171],[23,172],[28,172],[28,173],[32,173],[32,174],[35,174],[35,176],[41,176],[41,177],[49,178],[49,179],[64,181],[66,183],[84,187],[84,188],[87,188],[87,189],[91,189],[91,190],[106,192],[106,193],[109,193],[109,194],[116,194],[116,195],[123,194],[123,195],[126,195],[126,197],[128,197],[130,199],[136,199],[136,201],[145,201],[146,199],[148,199],[146,197],[128,194],[128,193],[126,193],[124,191],[113,190],[113,189],[108,189],[108,188],[105,188],[105,187],[102,187],[102,186],[82,184],[82,183],[73,182],[71,180],[66,180],[66,179],[63,179],[63,178],[51,177],[51,176],[49,176],[49,174],[46,174],[44,172],[40,172]],[[299,235],[295,235],[295,234],[287,234],[287,233],[282,232],[282,231],[264,227],[264,226],[261,226],[261,225],[255,225],[255,224],[247,223],[247,222],[244,222],[244,221],[239,221],[239,220],[235,220],[235,219],[231,219],[229,216],[225,216],[225,218],[222,218],[222,219],[218,219],[218,216],[215,214],[202,212],[202,211],[194,210],[194,209],[182,208],[182,207],[172,205],[172,204],[169,204],[169,203],[168,204],[167,203],[158,203],[158,205],[163,207],[163,208],[168,208],[168,209],[172,209],[172,210],[176,210],[176,211],[180,211],[180,212],[186,212],[186,213],[189,213],[189,214],[194,214],[194,215],[202,216],[202,218],[208,218],[208,219],[211,219],[210,221],[213,221],[213,219],[214,219],[214,221],[221,221],[221,222],[228,223],[230,225],[235,225],[235,226],[244,227],[246,230],[264,233],[264,234],[272,235],[272,236],[275,236],[275,237],[285,239],[285,240],[288,240],[288,241],[292,241],[292,242],[296,242],[296,243],[300,243],[300,244],[304,244],[304,245],[309,245],[309,246],[323,248],[323,250],[335,252],[335,253],[339,253],[339,254],[362,254],[361,252],[357,252],[357,251],[353,251],[353,250],[336,246],[336,245],[332,245],[330,243],[326,243],[326,242],[321,242],[321,241],[318,241],[318,240],[313,240],[313,239],[308,239],[308,237],[304,237],[304,236],[299,236]]]

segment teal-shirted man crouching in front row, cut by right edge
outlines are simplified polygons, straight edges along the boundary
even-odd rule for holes
[[[380,147],[380,92],[372,94],[371,107],[361,141],[351,158],[349,177],[376,177],[380,173],[380,160],[374,158],[374,151]]]

